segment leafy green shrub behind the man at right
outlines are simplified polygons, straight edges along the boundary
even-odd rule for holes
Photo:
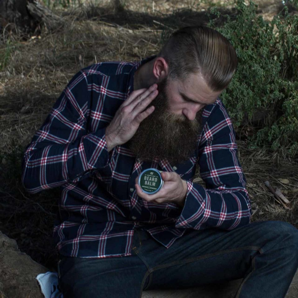
[[[297,4],[297,0],[295,4]],[[236,128],[254,126],[249,146],[271,147],[294,156],[298,149],[298,15],[287,7],[271,22],[256,16],[254,2],[238,0],[237,15],[224,25],[208,26],[230,40],[239,59],[237,71],[222,93]],[[220,16],[218,9],[211,14]],[[252,121],[259,111],[263,120]]]

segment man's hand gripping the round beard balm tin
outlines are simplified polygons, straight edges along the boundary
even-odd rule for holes
[[[145,201],[153,203],[171,202],[178,204],[180,207],[184,206],[187,193],[187,183],[185,180],[182,180],[177,173],[162,172],[161,178],[164,180],[164,185],[153,195],[149,195],[142,191],[142,188],[138,185],[138,178],[139,177],[135,180],[137,195]]]

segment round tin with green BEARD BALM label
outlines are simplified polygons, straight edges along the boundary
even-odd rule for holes
[[[161,178],[160,171],[154,168],[142,171],[138,179],[142,191],[148,194],[154,194],[160,190],[164,181]]]

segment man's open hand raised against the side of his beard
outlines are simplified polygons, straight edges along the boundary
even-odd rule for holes
[[[154,111],[154,106],[147,106],[157,94],[157,84],[153,84],[148,89],[135,90],[129,95],[106,127],[108,151],[133,137],[140,123]]]

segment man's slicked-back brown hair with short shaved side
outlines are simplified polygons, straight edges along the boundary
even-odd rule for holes
[[[158,57],[168,63],[169,78],[186,79],[187,75],[197,73],[214,92],[228,86],[238,64],[236,51],[228,39],[205,26],[175,31]]]

